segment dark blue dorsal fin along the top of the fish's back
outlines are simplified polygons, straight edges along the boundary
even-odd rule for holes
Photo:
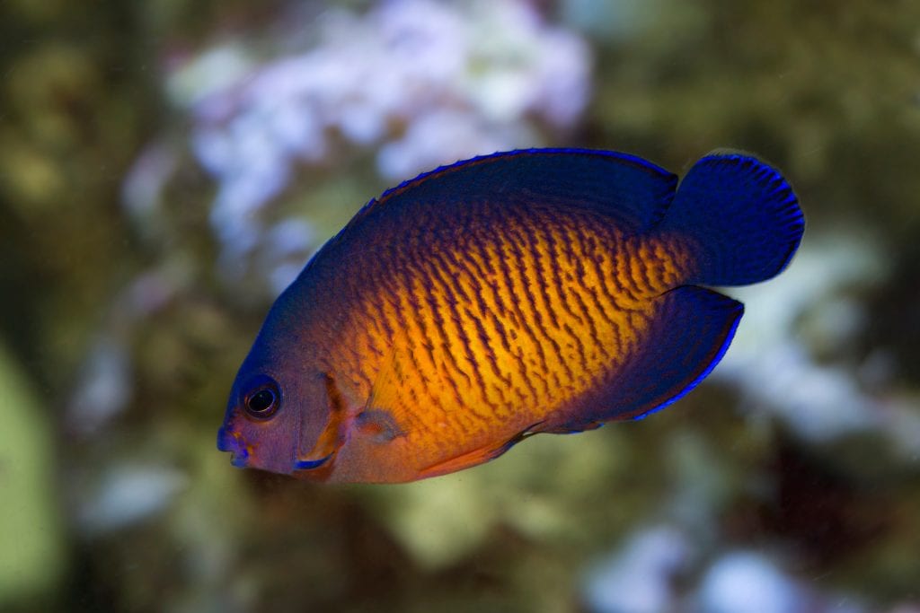
[[[445,165],[388,189],[348,227],[389,207],[500,206],[542,202],[593,210],[638,232],[657,223],[673,199],[677,177],[635,155],[589,149],[525,149]],[[343,230],[345,233],[348,227]]]

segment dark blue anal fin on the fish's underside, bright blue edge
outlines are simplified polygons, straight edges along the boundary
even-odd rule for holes
[[[682,398],[706,378],[729,348],[744,306],[710,289],[683,286],[654,302],[650,329],[627,361],[573,407],[551,432],[573,432],[611,420],[640,419]]]

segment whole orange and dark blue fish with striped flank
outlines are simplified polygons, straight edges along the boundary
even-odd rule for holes
[[[805,219],[771,165],[684,178],[629,153],[529,149],[371,199],[270,308],[217,437],[237,467],[411,482],[540,433],[643,418],[715,368]]]

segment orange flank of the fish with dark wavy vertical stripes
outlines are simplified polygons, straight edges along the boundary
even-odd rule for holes
[[[354,396],[391,386],[389,406],[413,461],[503,442],[592,391],[643,340],[652,299],[684,276],[667,236],[621,232],[589,212],[469,205],[462,222],[363,252],[334,368]],[[460,230],[456,230],[460,228]],[[397,368],[398,367],[398,368]],[[381,378],[381,369],[400,377]]]

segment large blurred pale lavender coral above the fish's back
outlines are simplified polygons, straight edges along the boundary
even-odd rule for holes
[[[305,50],[261,61],[228,42],[167,77],[173,104],[189,114],[191,149],[218,183],[211,223],[223,271],[237,280],[234,271],[270,243],[264,209],[298,168],[328,167],[344,146],[374,153],[380,175],[397,181],[534,146],[543,132],[570,130],[587,104],[587,46],[525,2],[392,0],[361,15],[331,8],[312,30]],[[166,178],[171,163],[156,152],[132,173],[132,210],[147,208],[140,187],[155,193]],[[293,279],[292,259],[309,251],[262,257],[274,293]]]

